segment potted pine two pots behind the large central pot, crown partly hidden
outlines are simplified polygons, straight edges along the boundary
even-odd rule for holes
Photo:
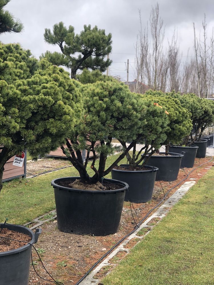
[[[163,106],[169,113],[169,124],[166,130],[166,139],[161,145],[165,145],[165,152],[157,151],[157,154],[152,155],[148,160],[148,165],[159,168],[159,177],[156,179],[163,181],[173,181],[177,179],[181,159],[183,154],[169,152],[170,143],[178,144],[192,129],[191,114],[187,109],[181,106],[178,99],[175,99],[161,91],[148,90],[145,98],[152,98],[155,103]]]

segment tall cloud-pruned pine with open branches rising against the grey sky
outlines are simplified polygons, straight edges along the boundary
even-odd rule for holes
[[[44,39],[49,44],[58,45],[61,53],[47,51],[41,57],[57,66],[69,68],[71,78],[76,78],[77,70],[84,68],[104,72],[112,62],[104,59],[112,49],[111,37],[111,34],[105,34],[105,30],[97,26],[91,28],[90,25],[84,25],[84,30],[75,34],[74,27],[66,28],[60,22],[53,26],[53,32],[45,29]]]

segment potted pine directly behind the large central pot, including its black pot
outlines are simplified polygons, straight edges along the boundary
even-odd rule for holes
[[[169,113],[152,99],[143,99],[140,94],[135,96],[142,102],[142,105],[145,105],[145,112],[141,113],[138,140],[132,142],[134,143],[133,151],[126,153],[129,164],[122,164],[112,169],[112,178],[128,183],[129,192],[126,192],[125,201],[145,203],[152,199],[158,170],[156,167],[145,164],[167,138]],[[125,141],[119,141],[124,149],[128,148]],[[137,144],[143,145],[140,150],[137,150]]]

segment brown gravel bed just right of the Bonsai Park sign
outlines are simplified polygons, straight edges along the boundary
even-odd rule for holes
[[[56,168],[61,168],[69,165],[71,164],[66,159],[49,158],[49,157],[37,161],[29,161],[27,162],[27,176],[39,174],[41,172],[54,170]]]

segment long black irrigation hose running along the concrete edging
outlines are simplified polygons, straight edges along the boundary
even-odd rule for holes
[[[166,198],[167,194],[173,190],[175,187],[177,187],[179,184],[181,184],[184,180],[186,180],[189,177],[189,174],[192,173],[195,169],[201,167],[203,164],[206,164],[210,161],[213,160],[213,157],[211,156],[211,159],[207,162],[202,163],[201,165],[193,168],[188,174],[187,177],[182,179],[179,183],[177,183],[175,186],[173,186],[171,189],[169,189],[167,191],[167,193],[165,194],[165,196],[163,197],[163,199],[154,207],[152,208],[147,214],[146,216],[138,223],[138,227],[142,224],[142,222],[148,217],[148,215],[150,215],[150,213],[152,211],[154,211],[154,209],[156,209]],[[132,233],[134,233],[138,227],[135,227],[130,233],[128,233],[127,235],[125,235],[125,237],[123,237],[120,241],[118,241],[118,243],[116,243],[116,245],[114,245],[106,254],[104,254],[87,272],[86,274],[75,284],[75,285],[79,285],[87,276],[88,274],[100,263],[100,261],[102,261],[107,255],[109,255],[109,253],[111,253],[120,243],[122,243],[122,241],[124,241],[124,239],[126,239],[127,237],[129,237]]]

